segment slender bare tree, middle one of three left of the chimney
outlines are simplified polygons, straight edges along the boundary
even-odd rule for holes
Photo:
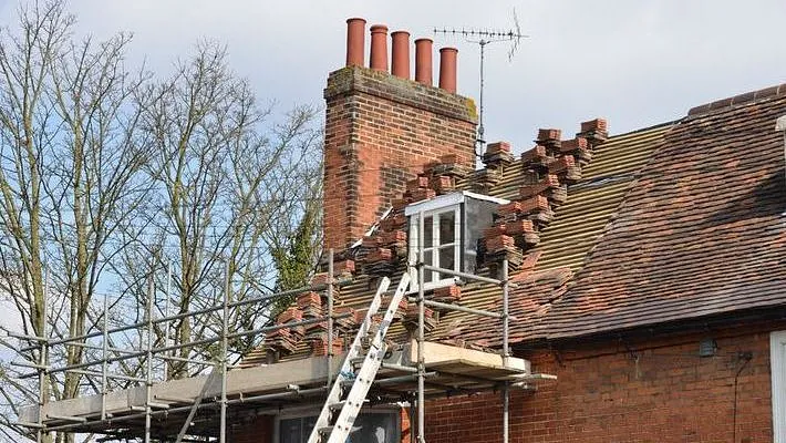
[[[86,332],[91,300],[104,270],[118,254],[112,244],[149,192],[142,174],[147,150],[138,135],[141,107],[134,93],[143,75],[131,78],[122,65],[126,35],[93,49],[90,40],[53,61],[52,102],[66,142],[53,150],[44,186],[59,202],[46,219],[52,233],[55,289],[69,296],[69,333]],[[95,51],[95,52],[93,52]],[[82,348],[69,349],[68,362],[80,362]],[[75,374],[65,378],[65,396],[77,393]]]

